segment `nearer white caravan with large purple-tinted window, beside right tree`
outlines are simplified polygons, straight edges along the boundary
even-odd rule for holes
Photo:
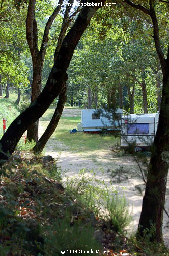
[[[157,131],[159,113],[130,114],[122,116],[121,148],[134,144],[137,148],[149,148]]]

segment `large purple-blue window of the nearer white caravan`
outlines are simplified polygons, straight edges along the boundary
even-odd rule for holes
[[[127,125],[128,134],[148,134],[149,124],[148,123],[132,123]]]

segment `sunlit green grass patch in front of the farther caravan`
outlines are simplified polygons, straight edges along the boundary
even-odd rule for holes
[[[46,124],[46,122],[51,119],[53,111],[53,107],[51,107],[44,114],[41,118],[42,123]],[[80,113],[77,115],[80,115]],[[74,128],[77,129],[78,123],[80,123],[80,116],[62,116],[57,129],[52,135],[52,139],[56,139],[57,141],[64,143],[66,147],[69,147],[69,151],[71,150],[79,153],[105,150],[106,148],[110,148],[112,144],[116,144],[119,141],[118,138],[114,138],[111,135],[102,136],[100,134],[87,134],[83,132],[70,134],[69,130]]]

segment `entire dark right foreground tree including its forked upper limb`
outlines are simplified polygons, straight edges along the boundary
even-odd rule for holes
[[[156,242],[163,242],[162,221],[169,168],[169,48],[167,58],[165,59],[160,45],[155,1],[149,0],[150,9],[146,9],[140,4],[136,5],[130,0],[125,0],[125,2],[151,17],[154,44],[160,60],[163,75],[159,123],[148,167],[146,190],[138,225],[138,234],[142,237],[144,236],[144,230],[150,229],[151,223],[155,225],[156,229],[152,240]]]

